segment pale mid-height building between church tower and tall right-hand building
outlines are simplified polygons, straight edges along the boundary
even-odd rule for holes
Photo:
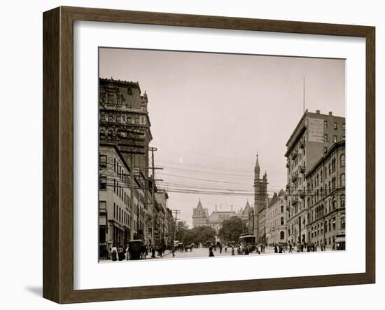
[[[286,192],[274,193],[267,208],[267,244],[275,245],[287,241]]]

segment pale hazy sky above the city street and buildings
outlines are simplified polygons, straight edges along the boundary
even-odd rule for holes
[[[209,214],[253,204],[257,152],[269,196],[286,187],[303,107],[346,113],[345,60],[100,48],[99,76],[146,90],[157,178],[190,227],[199,200]]]

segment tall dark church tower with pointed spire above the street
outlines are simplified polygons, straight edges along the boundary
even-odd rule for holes
[[[260,178],[260,166],[257,160],[254,168],[254,231],[255,240],[260,240],[260,213],[267,207],[267,173]]]

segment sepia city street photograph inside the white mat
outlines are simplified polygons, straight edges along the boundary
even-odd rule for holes
[[[346,248],[344,59],[99,48],[99,262]]]

